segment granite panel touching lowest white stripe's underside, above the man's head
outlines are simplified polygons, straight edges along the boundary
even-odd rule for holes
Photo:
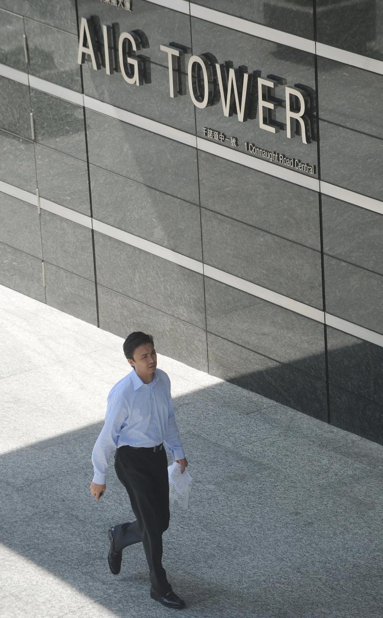
[[[199,273],[95,233],[97,282],[120,294],[205,328]]]

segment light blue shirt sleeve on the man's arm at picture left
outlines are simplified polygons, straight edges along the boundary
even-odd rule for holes
[[[109,394],[105,423],[92,451],[93,483],[104,485],[106,472],[108,472],[108,462],[112,452],[117,447],[118,436],[126,417],[127,410],[124,400],[121,396]]]

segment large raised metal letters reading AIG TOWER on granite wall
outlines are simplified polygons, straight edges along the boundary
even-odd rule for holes
[[[98,17],[82,17],[80,22],[77,62],[89,59],[94,70],[106,74],[121,72],[129,85],[150,83],[150,57],[142,51],[150,48],[142,30],[119,32],[118,23],[101,24]],[[246,66],[218,62],[210,52],[191,55],[182,43],[160,44],[168,66],[170,98],[189,93],[196,108],[222,105],[226,117],[236,114],[239,122],[257,121],[269,133],[298,135],[304,144],[316,141],[315,93],[301,83],[288,85],[283,76],[261,70],[249,72]],[[189,60],[186,62],[187,56]],[[186,86],[187,83],[187,86]],[[284,111],[277,120],[277,110]],[[246,148],[246,150],[248,150]]]

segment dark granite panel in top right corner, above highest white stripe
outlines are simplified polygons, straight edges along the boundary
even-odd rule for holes
[[[316,0],[317,40],[381,60],[383,11],[380,0]]]

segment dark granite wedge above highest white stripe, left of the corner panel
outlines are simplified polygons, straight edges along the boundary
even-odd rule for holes
[[[222,11],[293,35],[314,38],[312,2],[306,0],[193,0],[194,4]]]

